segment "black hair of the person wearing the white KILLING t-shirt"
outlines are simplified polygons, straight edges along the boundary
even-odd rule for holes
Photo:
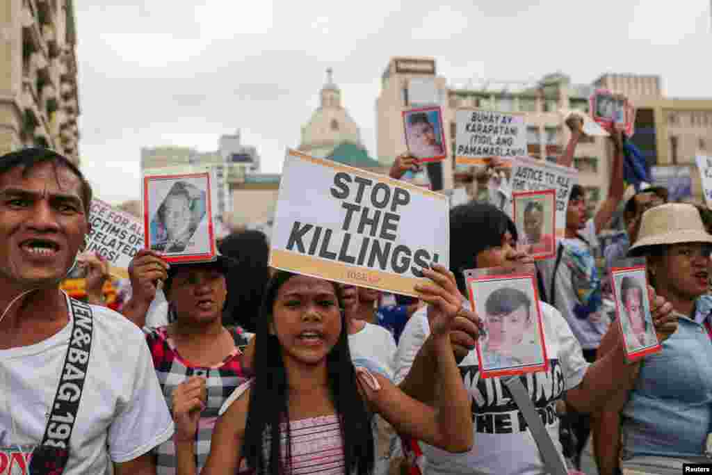
[[[450,271],[463,295],[468,293],[462,271],[476,268],[477,254],[501,246],[507,231],[516,241],[514,222],[493,204],[470,202],[450,210]]]

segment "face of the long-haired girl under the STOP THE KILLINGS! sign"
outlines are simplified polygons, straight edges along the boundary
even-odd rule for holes
[[[281,344],[285,361],[325,364],[342,330],[333,283],[293,276],[279,288],[272,310],[271,332]]]

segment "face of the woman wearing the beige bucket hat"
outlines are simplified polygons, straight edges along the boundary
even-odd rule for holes
[[[696,300],[709,288],[710,246],[673,244],[660,258],[651,259],[656,285],[676,298]]]

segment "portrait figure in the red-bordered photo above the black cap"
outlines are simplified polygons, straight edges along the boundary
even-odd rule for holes
[[[152,220],[151,249],[185,251],[205,212],[205,193],[187,182],[175,182]]]

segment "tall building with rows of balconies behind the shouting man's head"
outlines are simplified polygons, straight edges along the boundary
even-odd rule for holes
[[[48,147],[79,164],[73,0],[0,1],[0,153]]]

